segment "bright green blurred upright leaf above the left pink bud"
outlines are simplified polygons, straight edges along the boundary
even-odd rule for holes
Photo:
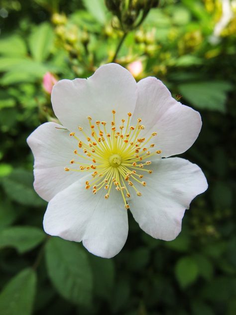
[[[51,25],[44,22],[37,26],[29,36],[29,49],[36,61],[44,61],[51,52],[54,33]]]

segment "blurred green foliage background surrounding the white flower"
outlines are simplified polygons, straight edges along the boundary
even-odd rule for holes
[[[55,120],[47,72],[88,77],[111,61],[200,111],[202,132],[182,157],[209,189],[171,242],[129,215],[123,250],[106,260],[43,232],[26,138]],[[1,315],[236,314],[235,0],[1,0],[0,86]]]

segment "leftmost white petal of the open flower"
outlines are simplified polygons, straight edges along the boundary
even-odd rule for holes
[[[34,155],[34,189],[46,201],[81,177],[79,172],[64,170],[72,158],[80,160],[74,154],[78,145],[67,130],[57,128],[63,126],[45,123],[27,139]]]

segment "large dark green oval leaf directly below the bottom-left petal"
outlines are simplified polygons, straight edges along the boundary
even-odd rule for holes
[[[48,275],[59,294],[75,304],[90,304],[93,279],[87,253],[78,244],[56,237],[45,250]]]

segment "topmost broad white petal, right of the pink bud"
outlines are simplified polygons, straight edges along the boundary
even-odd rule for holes
[[[103,65],[87,80],[61,80],[54,85],[52,105],[57,118],[70,131],[78,126],[90,133],[87,116],[94,121],[126,118],[133,112],[137,99],[137,85],[131,73],[118,64]],[[121,124],[121,123],[120,123]]]

